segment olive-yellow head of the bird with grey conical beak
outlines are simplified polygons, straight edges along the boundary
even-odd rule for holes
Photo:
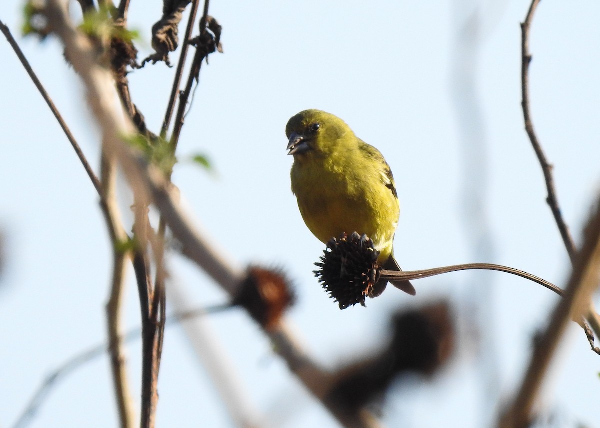
[[[346,122],[321,110],[304,110],[287,122],[288,155],[326,154],[353,135]]]

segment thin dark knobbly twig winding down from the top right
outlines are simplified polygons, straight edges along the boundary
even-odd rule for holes
[[[533,150],[535,150],[535,153],[538,156],[539,164],[541,165],[544,173],[544,180],[546,182],[546,189],[548,191],[548,197],[546,198],[546,201],[550,206],[552,214],[554,215],[554,221],[556,221],[556,225],[560,231],[560,236],[562,236],[566,251],[571,259],[571,264],[573,264],[575,255],[577,254],[577,249],[575,248],[575,242],[571,236],[571,232],[569,231],[569,227],[563,218],[562,210],[559,206],[556,188],[554,186],[553,165],[548,163],[544,149],[542,149],[535,130],[533,129],[533,121],[529,108],[529,64],[532,61],[532,55],[529,52],[529,31],[533,20],[533,15],[538,8],[539,1],[540,0],[532,1],[529,11],[527,11],[525,21],[521,23],[521,92],[523,95],[521,107],[523,107],[523,119],[525,122],[527,135],[529,135],[529,140],[531,141]],[[600,315],[596,312],[593,302],[590,302],[590,308],[586,314],[586,318],[592,326],[593,331],[596,333],[596,336],[600,336]],[[593,334],[587,334],[587,338],[590,342],[590,346],[592,346],[592,349],[595,349],[596,346]]]

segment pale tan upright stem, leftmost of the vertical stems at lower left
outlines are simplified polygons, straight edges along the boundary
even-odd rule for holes
[[[121,318],[122,302],[125,298],[125,272],[131,251],[122,248],[129,236],[122,225],[121,213],[116,201],[116,159],[107,156],[103,152],[101,164],[104,189],[102,206],[113,245],[113,279],[109,301],[106,304],[110,367],[112,368],[113,383],[115,384],[121,428],[133,428],[135,412],[127,378]]]

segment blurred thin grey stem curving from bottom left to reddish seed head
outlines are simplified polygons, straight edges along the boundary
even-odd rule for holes
[[[230,303],[223,303],[222,305],[209,306],[208,308],[193,309],[191,311],[182,311],[175,314],[169,315],[166,319],[166,325],[172,326],[177,325],[181,321],[189,320],[190,318],[196,318],[203,315],[215,314],[226,309],[230,309],[233,306]],[[132,328],[125,334],[121,334],[117,339],[119,342],[131,342],[135,339],[140,338],[142,332],[141,327]],[[109,342],[98,343],[89,349],[85,349],[82,352],[68,358],[67,361],[62,363],[56,369],[52,370],[49,375],[46,376],[40,386],[37,388],[33,396],[28,402],[28,405],[23,409],[19,418],[13,428],[25,428],[29,425],[34,415],[39,411],[41,405],[49,397],[52,390],[58,386],[58,382],[67,377],[70,373],[73,373],[76,369],[83,366],[83,364],[89,363],[95,358],[101,357],[104,352],[111,352],[112,338]]]

